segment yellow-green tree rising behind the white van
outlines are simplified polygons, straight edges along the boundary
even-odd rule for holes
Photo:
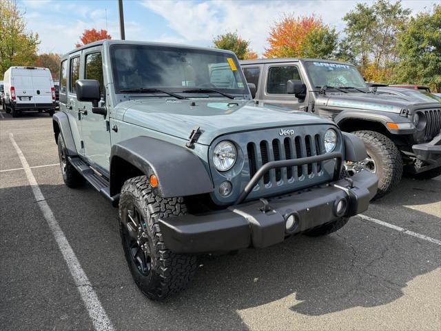
[[[10,0],[0,0],[0,77],[10,66],[32,66],[39,35],[26,32],[23,12]]]

